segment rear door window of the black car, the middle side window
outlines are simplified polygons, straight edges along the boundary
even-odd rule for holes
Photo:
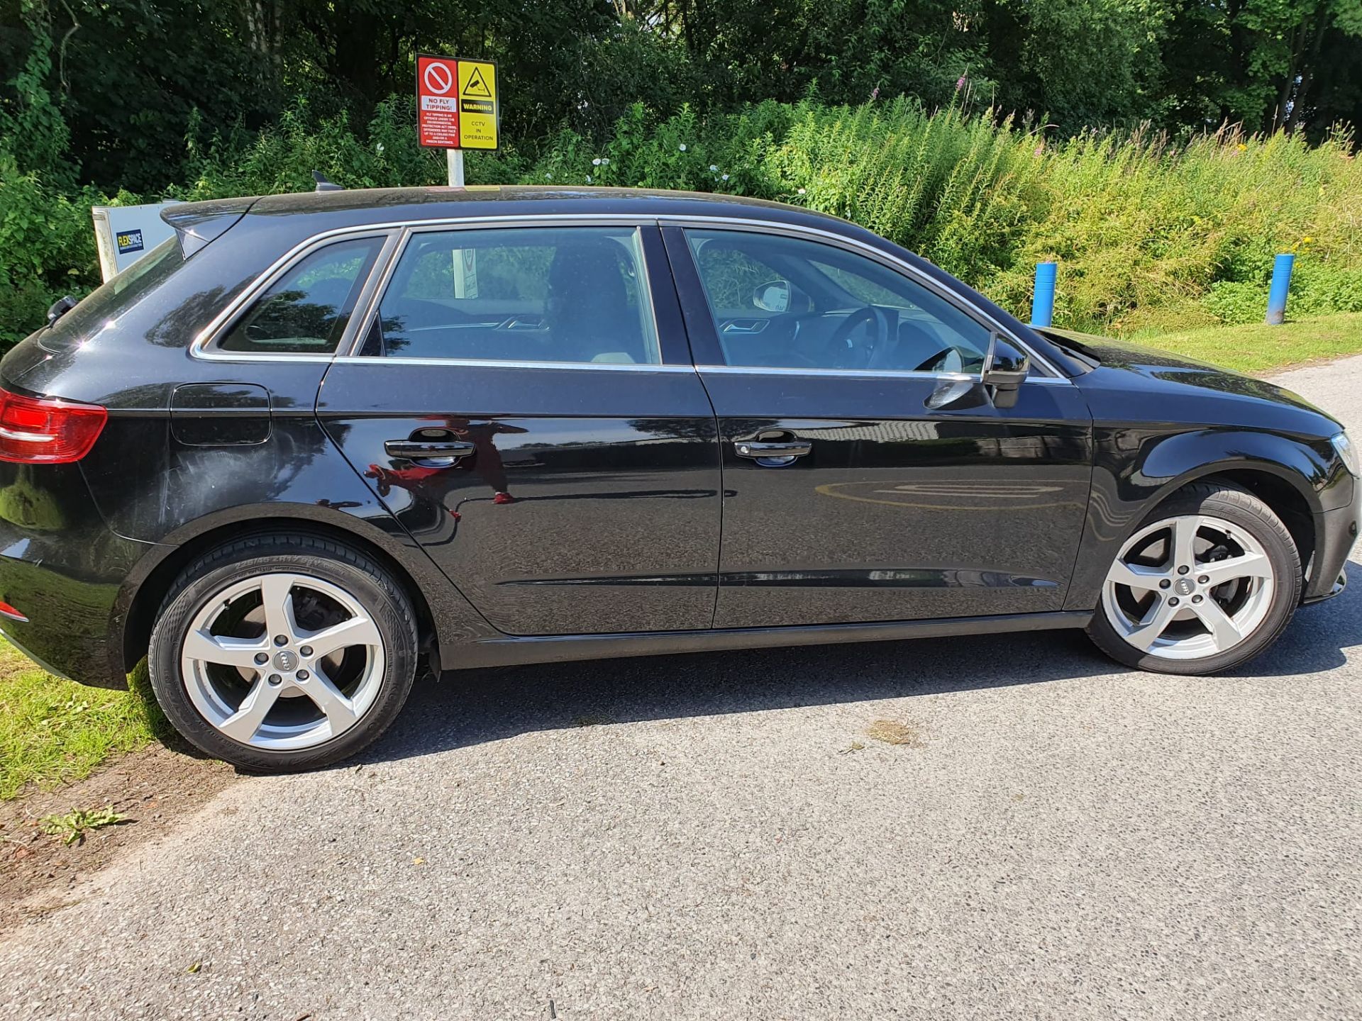
[[[418,231],[398,260],[362,353],[658,365],[639,231]]]

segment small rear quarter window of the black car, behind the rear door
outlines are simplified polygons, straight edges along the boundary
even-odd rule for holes
[[[253,354],[332,354],[381,237],[338,241],[297,263],[237,320],[219,347]]]

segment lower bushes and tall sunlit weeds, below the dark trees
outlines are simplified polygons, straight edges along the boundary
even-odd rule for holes
[[[444,154],[415,140],[407,97],[368,124],[300,101],[249,135],[185,142],[176,199],[309,191],[320,170],[346,187],[441,184]],[[933,260],[1005,308],[1030,305],[1034,264],[1060,263],[1056,321],[1135,332],[1175,321],[1261,317],[1272,259],[1298,253],[1293,314],[1362,309],[1362,162],[1347,136],[1233,129],[1166,136],[1087,132],[1068,140],[989,113],[929,113],[913,99],[828,106],[764,102],[659,118],[635,105],[605,142],[560,131],[466,154],[470,184],[625,185],[727,192],[855,221]],[[153,200],[162,196],[146,196]],[[112,201],[136,201],[121,193]],[[86,188],[19,170],[0,143],[0,343],[39,324],[63,293],[98,282]]]

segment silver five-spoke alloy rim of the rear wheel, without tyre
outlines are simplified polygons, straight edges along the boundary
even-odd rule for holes
[[[180,652],[189,701],[218,731],[289,751],[358,723],[383,686],[383,634],[339,585],[257,574],[207,599]]]

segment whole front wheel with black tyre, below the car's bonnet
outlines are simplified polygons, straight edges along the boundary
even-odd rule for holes
[[[1122,543],[1088,636],[1133,667],[1215,674],[1276,640],[1301,584],[1295,542],[1267,504],[1237,486],[1197,483]]]

